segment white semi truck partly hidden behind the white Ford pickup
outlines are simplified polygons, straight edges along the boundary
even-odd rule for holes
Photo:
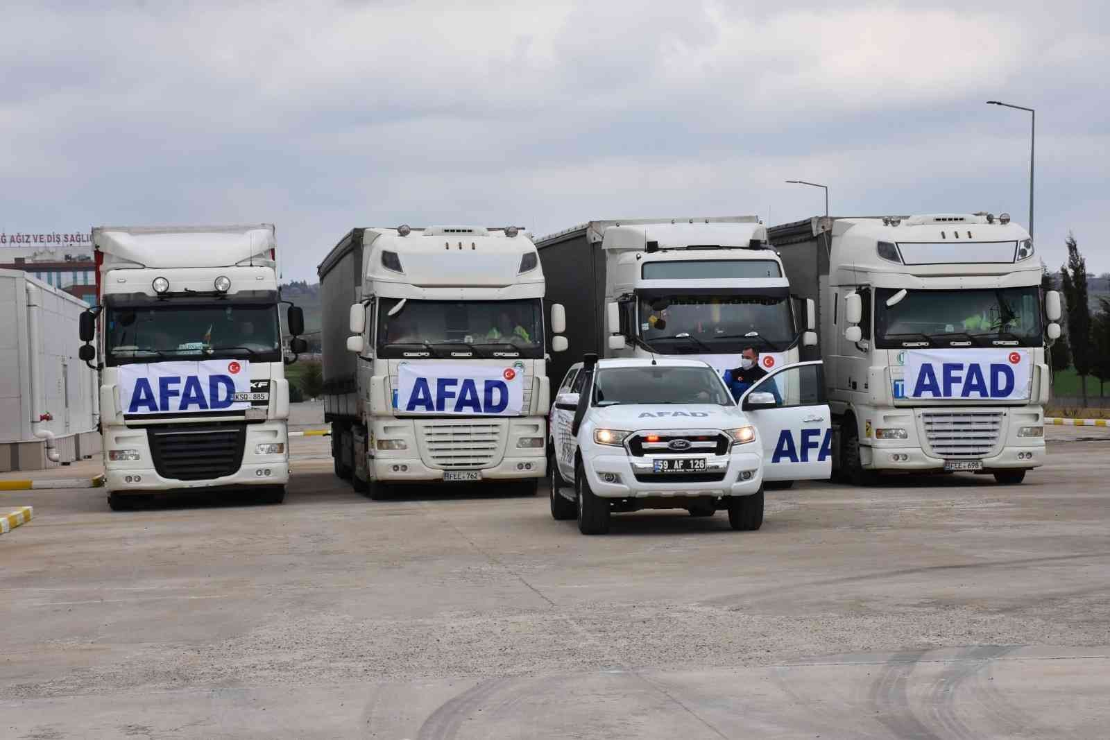
[[[791,298],[757,216],[591,221],[536,244],[547,295],[574,307],[577,356],[682,355],[723,375],[746,346],[769,372],[817,343],[814,304]]]

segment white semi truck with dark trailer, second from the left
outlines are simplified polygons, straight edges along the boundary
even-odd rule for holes
[[[354,229],[320,264],[335,474],[397,484],[546,475],[544,273],[514,227]],[[552,306],[551,330],[564,331]],[[553,339],[553,349],[566,339]]]

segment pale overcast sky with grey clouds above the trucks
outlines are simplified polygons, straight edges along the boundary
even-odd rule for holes
[[[1110,11],[1007,2],[6,4],[0,231],[1009,211],[1110,271]],[[100,3],[95,3],[100,4]],[[839,6],[834,9],[834,6]]]

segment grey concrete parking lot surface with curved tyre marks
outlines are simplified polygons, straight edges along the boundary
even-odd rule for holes
[[[292,450],[281,506],[0,493],[36,517],[0,538],[0,736],[1107,736],[1106,429],[1051,429],[1020,486],[798,485],[756,533],[604,537],[546,486],[371,501],[326,438]]]

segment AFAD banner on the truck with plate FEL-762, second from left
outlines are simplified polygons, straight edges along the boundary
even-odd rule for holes
[[[402,363],[394,406],[402,414],[518,416],[524,363]]]

